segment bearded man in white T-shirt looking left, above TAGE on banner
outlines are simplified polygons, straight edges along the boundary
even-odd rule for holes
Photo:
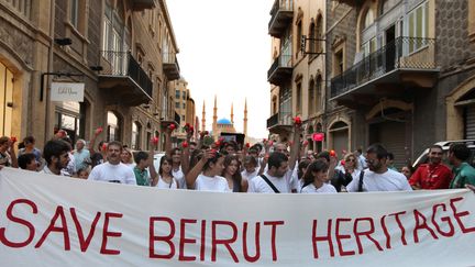
[[[349,192],[410,191],[412,188],[402,174],[388,169],[387,151],[383,145],[371,145],[366,151],[367,170],[347,185]]]

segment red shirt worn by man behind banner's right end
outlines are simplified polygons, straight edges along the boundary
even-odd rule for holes
[[[448,189],[452,180],[452,171],[443,164],[421,164],[409,179],[411,186],[420,189]]]

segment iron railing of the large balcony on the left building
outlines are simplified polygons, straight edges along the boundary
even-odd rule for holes
[[[103,68],[100,75],[130,77],[152,98],[152,80],[130,52],[101,51],[101,54],[110,66]]]

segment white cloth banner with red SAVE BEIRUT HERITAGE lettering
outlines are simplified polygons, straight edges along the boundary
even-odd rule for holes
[[[246,194],[0,170],[3,266],[471,266],[475,194]]]

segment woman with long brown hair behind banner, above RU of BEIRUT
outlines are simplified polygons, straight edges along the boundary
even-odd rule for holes
[[[247,180],[243,179],[240,173],[241,163],[238,156],[228,155],[224,157],[224,169],[222,177],[228,181],[232,192],[247,192]]]

